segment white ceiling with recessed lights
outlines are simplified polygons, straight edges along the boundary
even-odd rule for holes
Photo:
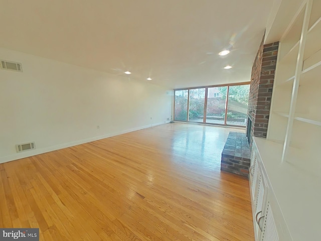
[[[113,74],[129,70],[131,78],[171,88],[244,82],[272,4],[0,0],[0,47]],[[219,56],[225,48],[231,53]]]

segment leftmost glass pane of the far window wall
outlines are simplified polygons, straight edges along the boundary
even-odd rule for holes
[[[175,90],[175,121],[187,121],[187,99],[189,91],[186,90]]]

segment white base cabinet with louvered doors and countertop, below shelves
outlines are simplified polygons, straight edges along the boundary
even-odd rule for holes
[[[281,163],[280,143],[254,137],[252,149],[249,185],[255,240],[321,240],[321,178]]]

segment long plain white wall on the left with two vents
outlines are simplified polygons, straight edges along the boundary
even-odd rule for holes
[[[0,69],[0,163],[171,118],[172,90],[165,87],[8,49],[0,48],[0,59],[24,71]],[[37,149],[18,154],[15,145],[26,142]]]

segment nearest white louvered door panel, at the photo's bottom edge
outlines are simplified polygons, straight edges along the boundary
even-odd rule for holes
[[[265,221],[263,226],[262,241],[278,241],[277,230],[273,217],[273,212],[268,202],[265,213]]]

